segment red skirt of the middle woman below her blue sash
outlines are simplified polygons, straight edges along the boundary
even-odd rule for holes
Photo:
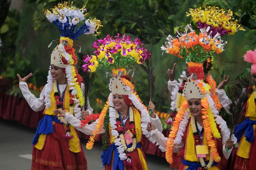
[[[144,152],[142,152],[142,154],[143,154],[143,157],[146,161],[146,156],[145,156]],[[114,152],[113,152],[113,155],[114,155]],[[125,170],[142,170],[143,167],[142,167],[142,164],[140,162],[138,149],[136,148],[134,151],[132,151],[130,153],[130,155],[131,155],[132,166],[125,166],[124,165],[124,169]],[[113,156],[112,156],[111,164],[106,165],[105,170],[112,170],[112,164],[113,164]]]

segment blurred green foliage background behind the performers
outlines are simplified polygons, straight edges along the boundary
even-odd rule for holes
[[[18,78],[33,72],[29,79],[37,87],[45,85],[50,63],[50,55],[56,44],[47,48],[52,40],[59,39],[59,32],[53,23],[43,15],[42,8],[49,9],[61,1],[27,0],[20,11],[10,9],[8,16],[0,29],[3,41],[0,54],[2,80],[8,80],[13,88],[9,92],[20,94],[17,90]],[[184,68],[181,59],[163,54],[160,47],[164,45],[168,34],[175,35],[176,29],[182,31],[185,25],[191,23],[191,17],[186,17],[189,8],[206,5],[216,5],[227,11],[234,11],[234,17],[244,26],[246,31],[225,36],[228,41],[225,51],[214,57],[214,69],[211,71],[219,83],[219,77],[230,75],[231,79],[242,73],[249,74],[246,68],[250,64],[243,61],[243,55],[248,49],[256,48],[256,2],[254,0],[74,0],[77,7],[85,4],[90,17],[102,21],[103,28],[97,36],[82,35],[75,43],[82,46],[82,53],[93,53],[92,43],[107,34],[130,34],[139,37],[152,52],[152,63],[156,72],[154,103],[156,109],[170,112],[170,93],[167,90],[168,68],[177,63],[177,79]],[[192,23],[194,28],[196,25]],[[78,50],[78,49],[76,49]],[[136,90],[141,99],[148,103],[148,80],[139,65],[135,65],[134,80]],[[100,112],[109,94],[108,78],[103,71],[95,73],[95,79],[90,93],[90,104],[95,112]],[[228,86],[226,87],[228,88]],[[38,96],[38,93],[36,94]],[[103,101],[95,102],[95,98]]]

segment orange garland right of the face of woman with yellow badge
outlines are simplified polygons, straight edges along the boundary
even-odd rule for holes
[[[203,118],[204,134],[207,139],[207,144],[210,147],[210,152],[212,153],[212,157],[213,157],[214,161],[219,162],[220,156],[219,156],[215,141],[212,136],[212,129],[211,129],[209,113],[208,113],[208,109],[210,109],[210,108],[209,108],[207,98],[201,99],[201,105],[204,107],[204,108],[202,108],[202,114],[203,114],[202,118]]]

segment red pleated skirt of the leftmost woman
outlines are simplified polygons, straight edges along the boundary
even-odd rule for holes
[[[87,170],[80,141],[81,152],[71,152],[64,134],[63,124],[54,123],[53,132],[46,136],[44,148],[33,147],[31,170]]]

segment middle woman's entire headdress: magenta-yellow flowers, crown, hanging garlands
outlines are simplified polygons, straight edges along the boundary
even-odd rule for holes
[[[134,91],[134,83],[130,81],[127,76],[129,73],[126,72],[125,68],[132,66],[133,63],[143,64],[143,61],[148,60],[151,53],[144,48],[144,44],[141,43],[140,39],[136,38],[132,41],[130,36],[123,35],[120,38],[119,34],[114,38],[107,35],[103,40],[98,40],[93,43],[92,48],[95,48],[95,55],[86,56],[84,59],[85,64],[83,65],[85,72],[94,72],[96,70],[112,70],[113,78],[110,78],[109,90],[111,91],[108,96],[103,110],[100,113],[99,121],[96,125],[96,130],[90,136],[88,143],[86,144],[87,149],[92,149],[95,138],[99,134],[101,128],[105,129],[103,139],[103,149],[108,148],[108,135],[109,127],[111,129],[111,135],[115,138],[115,145],[119,148],[119,157],[124,161],[126,165],[131,164],[130,152],[136,147],[136,131],[133,120],[133,111],[130,113],[130,125],[134,137],[132,138],[132,147],[127,148],[123,139],[123,133],[121,134],[120,126],[118,125],[118,114],[112,102],[113,94],[120,93],[128,95],[129,100],[132,101],[132,105],[137,108],[141,113],[141,130],[142,134],[145,135],[149,141],[155,143],[156,141],[150,137],[147,131],[147,124],[149,122],[149,115],[147,107],[141,102],[137,92]],[[131,107],[130,107],[131,108]],[[109,126],[110,124],[110,126]],[[159,144],[157,144],[159,145]],[[163,149],[159,145],[160,149]]]

